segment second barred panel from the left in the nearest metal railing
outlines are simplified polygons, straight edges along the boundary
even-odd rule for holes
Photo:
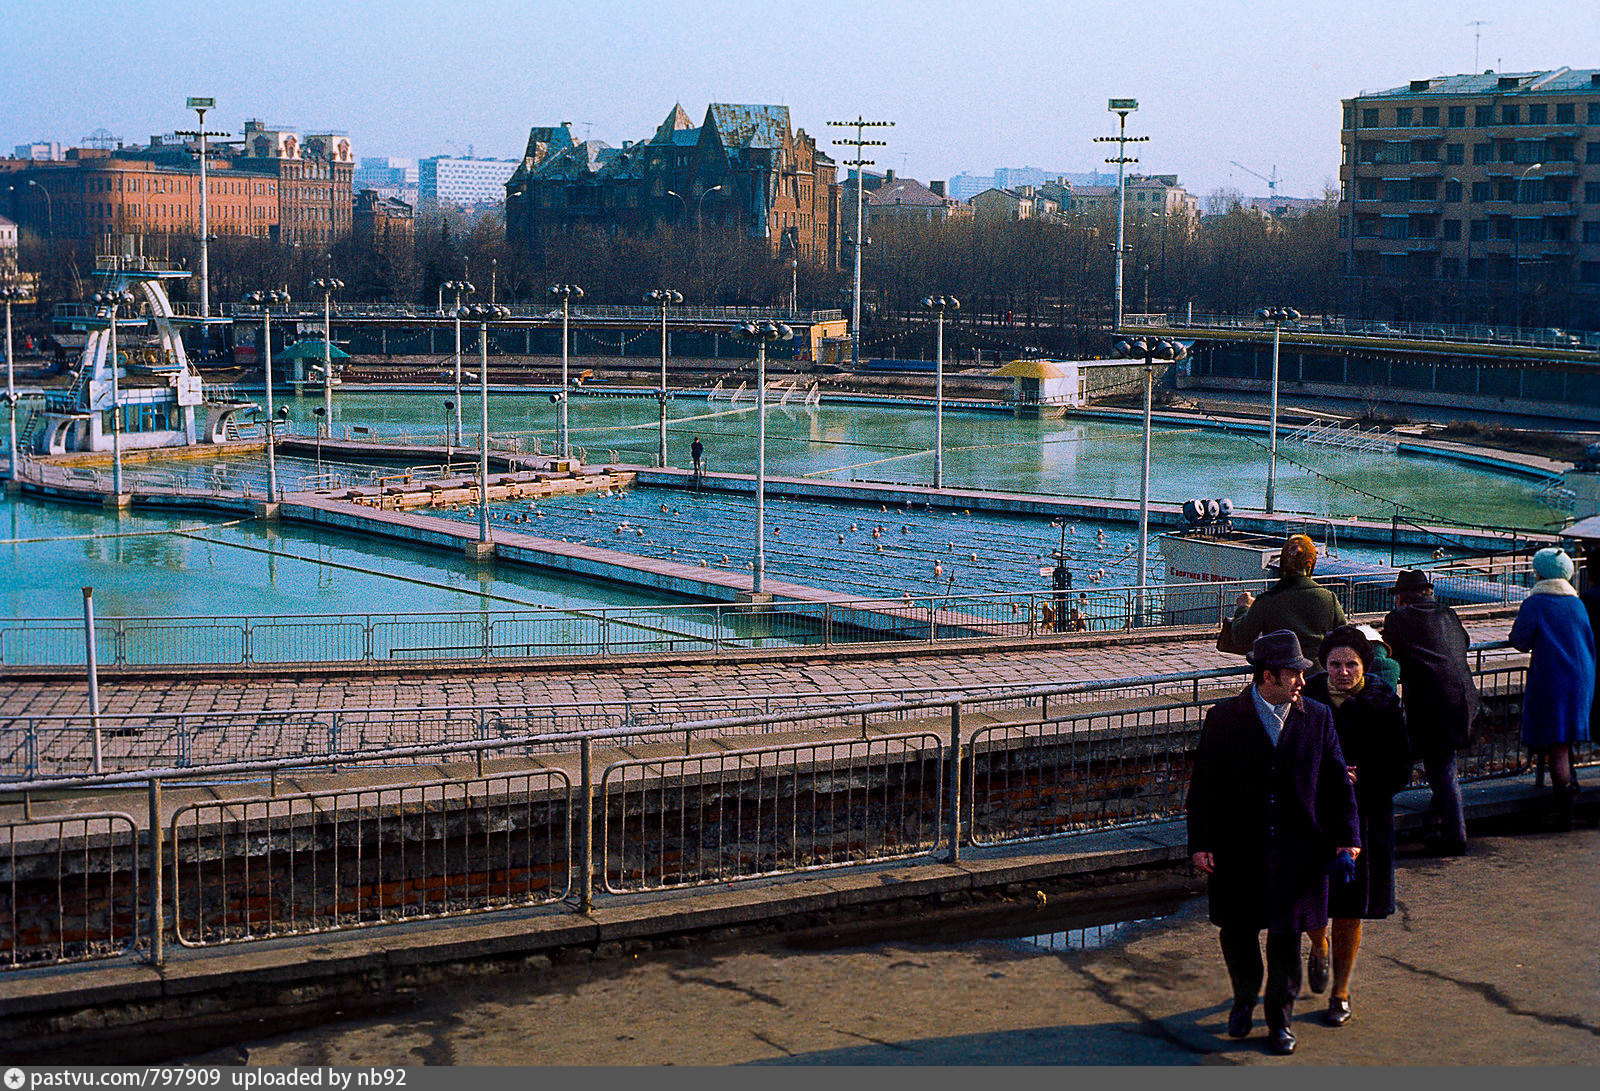
[[[205,800],[171,817],[186,947],[544,905],[573,875],[560,769]]]

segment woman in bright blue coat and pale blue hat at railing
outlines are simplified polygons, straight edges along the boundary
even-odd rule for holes
[[[1539,582],[1523,600],[1510,627],[1510,643],[1528,656],[1522,693],[1522,742],[1550,758],[1555,822],[1573,824],[1573,744],[1589,739],[1595,693],[1595,638],[1589,614],[1570,582],[1573,558],[1562,550],[1533,555]]]

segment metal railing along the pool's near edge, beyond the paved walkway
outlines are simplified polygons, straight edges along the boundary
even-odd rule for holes
[[[1347,614],[1386,611],[1392,605],[1389,576],[1320,582]],[[582,611],[101,617],[94,633],[98,659],[106,667],[722,654],[771,646],[933,645],[1216,625],[1232,616],[1238,592],[1259,593],[1269,584],[1262,577],[1066,592],[920,597],[906,592],[901,598],[781,598],[758,609],[742,603],[685,603]],[[1435,587],[1443,601],[1514,603],[1526,593],[1515,566],[1440,574]],[[82,638],[83,622],[77,617],[3,619],[0,665],[75,667],[85,662]]]

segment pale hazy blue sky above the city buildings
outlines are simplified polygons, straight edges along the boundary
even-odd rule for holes
[[[34,139],[125,141],[245,118],[344,130],[360,155],[512,158],[528,128],[650,136],[674,102],[776,102],[826,122],[893,120],[878,168],[1093,170],[1138,98],[1139,168],[1195,194],[1318,195],[1339,99],[1411,78],[1600,64],[1594,0],[0,0],[0,154]],[[835,158],[845,158],[838,149]]]

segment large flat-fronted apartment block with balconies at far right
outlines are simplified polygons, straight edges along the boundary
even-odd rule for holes
[[[1432,77],[1342,106],[1354,310],[1600,326],[1600,70]]]

